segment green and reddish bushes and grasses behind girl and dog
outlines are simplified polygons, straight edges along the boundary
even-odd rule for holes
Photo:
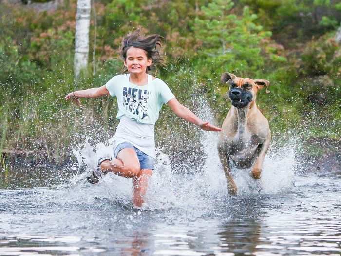
[[[340,11],[340,0],[95,0],[89,69],[75,83],[76,1],[43,12],[0,3],[0,152],[32,150],[31,160],[63,164],[72,146],[111,137],[115,99],[82,100],[78,108],[64,96],[120,73],[119,43],[137,27],[165,38],[167,62],[154,74],[195,113],[205,99],[222,124],[230,103],[219,78],[229,71],[270,80],[271,93],[261,91],[257,104],[275,138],[290,131],[340,141]],[[176,161],[200,155],[198,129],[162,111],[163,150]]]

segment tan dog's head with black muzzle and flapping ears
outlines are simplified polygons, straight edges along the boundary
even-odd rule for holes
[[[236,108],[246,108],[251,102],[256,100],[258,90],[265,86],[266,93],[270,92],[267,90],[270,82],[265,79],[239,78],[225,72],[222,74],[220,81],[223,84],[229,84],[228,96],[232,101],[232,105]]]

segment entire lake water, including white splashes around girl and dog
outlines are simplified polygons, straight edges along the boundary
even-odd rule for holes
[[[174,171],[159,155],[142,211],[122,177],[16,170],[0,189],[0,255],[341,255],[341,171],[306,170],[288,142],[270,150],[261,181],[235,170],[231,197],[216,135],[205,141],[203,170]],[[95,164],[88,146],[75,154]]]

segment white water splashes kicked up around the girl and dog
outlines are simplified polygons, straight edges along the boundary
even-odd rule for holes
[[[199,117],[215,123],[206,99],[204,97],[197,99],[200,103],[199,113],[197,113]],[[190,169],[186,164],[181,164],[182,168],[176,168],[179,165],[172,165],[169,156],[157,149],[158,161],[146,195],[147,208],[176,209],[182,211],[182,214],[195,218],[228,202],[231,197],[227,192],[226,178],[218,157],[217,142],[217,133],[201,132],[201,143],[207,156],[205,159],[198,159],[198,161],[205,161],[202,170]],[[99,155],[112,156],[113,147],[114,138],[110,139],[109,145],[99,143],[91,146],[86,142],[79,149],[74,149],[73,152],[80,166],[76,180],[84,180],[85,173],[96,168]],[[289,141],[282,148],[271,150],[265,158],[261,180],[253,180],[249,174],[250,170],[233,170],[232,174],[238,187],[239,197],[273,195],[290,190],[294,181],[294,168],[297,164],[295,148],[296,142]],[[98,185],[86,185],[86,189],[88,190],[87,200],[107,197],[115,204],[131,205],[132,181],[130,179],[110,173]]]

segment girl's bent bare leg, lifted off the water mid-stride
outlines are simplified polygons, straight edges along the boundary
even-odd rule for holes
[[[127,178],[135,177],[140,173],[140,162],[133,148],[120,150],[117,158],[103,161],[100,167],[104,173],[113,172]]]

